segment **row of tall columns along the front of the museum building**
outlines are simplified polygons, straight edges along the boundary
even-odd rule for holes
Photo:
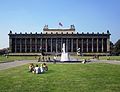
[[[107,38],[14,38],[10,39],[12,52],[15,53],[39,53],[40,48],[44,52],[61,52],[62,44],[66,44],[67,52],[76,52],[78,48],[83,53],[108,52],[109,39]]]

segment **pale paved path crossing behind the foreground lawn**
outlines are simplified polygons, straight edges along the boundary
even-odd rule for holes
[[[89,62],[89,63],[110,63],[110,64],[119,64],[120,65],[120,61],[116,61],[116,60],[97,60],[97,59],[91,59],[90,61],[91,62]],[[12,67],[17,67],[17,66],[25,65],[25,64],[28,64],[28,63],[37,63],[37,60],[22,60],[22,61],[0,63],[0,70],[4,70],[4,69],[12,68]],[[65,62],[63,64],[66,64],[66,63],[67,62]]]

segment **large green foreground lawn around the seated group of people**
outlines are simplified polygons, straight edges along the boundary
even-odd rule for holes
[[[40,64],[39,64],[40,65]],[[120,65],[49,64],[44,74],[28,65],[0,71],[0,92],[119,92]]]

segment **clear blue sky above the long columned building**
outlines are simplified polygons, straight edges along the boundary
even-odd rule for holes
[[[0,0],[0,48],[9,46],[8,33],[38,32],[49,28],[69,28],[77,32],[111,33],[120,39],[120,0]]]

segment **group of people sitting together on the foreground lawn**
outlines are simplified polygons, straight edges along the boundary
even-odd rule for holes
[[[34,66],[33,63],[30,63],[29,65],[29,72],[35,73],[35,74],[42,74],[44,72],[48,71],[48,66],[46,63],[42,63],[39,67],[38,64]]]

